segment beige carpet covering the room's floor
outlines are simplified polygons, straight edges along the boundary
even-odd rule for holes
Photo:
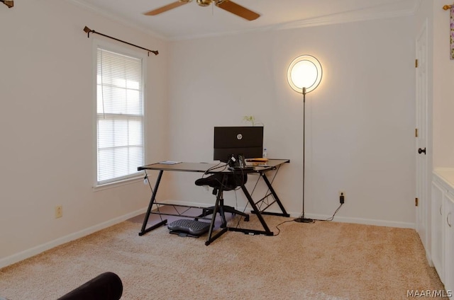
[[[265,216],[270,229],[283,217]],[[241,226],[260,229],[255,216]],[[409,299],[440,290],[411,229],[287,222],[278,236],[228,231],[210,246],[165,226],[138,236],[125,221],[0,270],[0,296],[56,299],[101,272],[118,274],[122,299]]]

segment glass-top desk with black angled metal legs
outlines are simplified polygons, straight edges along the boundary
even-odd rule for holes
[[[212,241],[216,240],[219,236],[221,236],[223,233],[226,231],[240,231],[243,233],[248,233],[248,234],[265,234],[267,236],[273,236],[274,233],[270,231],[268,228],[265,219],[263,219],[262,214],[272,214],[276,216],[282,216],[282,217],[290,217],[289,214],[284,209],[284,206],[282,205],[282,202],[279,200],[279,197],[277,197],[277,194],[272,188],[272,182],[267,178],[266,173],[268,171],[272,170],[278,170],[280,166],[284,163],[289,163],[289,159],[270,159],[267,161],[267,163],[248,163],[249,166],[253,166],[252,169],[245,169],[243,171],[235,171],[235,172],[243,172],[243,173],[256,173],[260,175],[260,178],[264,180],[264,182],[267,185],[267,188],[269,192],[267,192],[267,195],[265,197],[262,197],[262,199],[258,200],[255,202],[248,192],[247,188],[245,188],[245,185],[240,185],[241,190],[243,190],[243,193],[245,197],[248,199],[248,202],[250,206],[252,207],[252,213],[256,214],[260,224],[263,226],[263,231],[258,231],[254,229],[242,229],[242,228],[236,228],[236,227],[226,227],[221,229],[221,231],[218,231],[216,234],[213,234],[213,229],[214,229],[214,220],[216,219],[216,212],[218,212],[218,203],[219,203],[219,195],[221,195],[221,192],[218,192],[218,196],[216,197],[216,204],[214,208],[214,214],[213,217],[211,218],[211,224],[209,228],[209,236],[207,238],[207,241],[205,242],[206,246],[208,246]],[[148,218],[150,217],[150,214],[161,214],[160,212],[152,212],[153,205],[173,205],[173,204],[167,204],[167,203],[158,203],[156,202],[156,194],[157,190],[160,185],[160,181],[162,178],[162,173],[164,171],[178,171],[178,172],[198,172],[198,173],[207,173],[207,174],[213,174],[213,173],[232,173],[233,171],[228,171],[227,168],[223,168],[223,166],[220,167],[218,163],[187,163],[187,162],[180,162],[180,163],[175,163],[175,164],[168,164],[168,163],[152,163],[146,166],[140,166],[138,167],[138,171],[145,171],[145,174],[147,171],[159,171],[159,174],[157,175],[156,182],[155,182],[155,188],[153,189],[152,196],[150,199],[150,203],[148,204],[148,209],[145,214],[145,218],[143,220],[142,224],[142,229],[139,232],[139,236],[143,236],[143,234],[148,233],[149,231],[152,231],[153,229],[156,229],[157,227],[160,227],[162,225],[167,224],[167,219],[162,220],[158,222],[157,224],[154,224],[148,228],[146,228],[148,224]],[[148,177],[148,175],[147,175]],[[259,178],[259,179],[260,179]],[[258,204],[262,204],[265,200],[268,199],[268,197],[272,196],[273,201],[271,203],[266,203],[265,208],[259,209]],[[270,207],[272,204],[277,203],[279,206],[279,209],[281,212],[266,212],[266,209]],[[180,204],[175,204],[175,206],[183,206]],[[191,206],[188,206],[191,207]],[[202,207],[195,207],[195,208],[202,208]],[[169,214],[167,214],[169,215]],[[175,214],[170,214],[170,215],[175,215]],[[177,216],[180,217],[190,217],[194,218],[192,216],[184,216],[182,214],[177,214]]]

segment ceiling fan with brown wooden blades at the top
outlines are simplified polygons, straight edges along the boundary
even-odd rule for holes
[[[167,4],[165,6],[153,9],[153,11],[148,11],[143,14],[145,16],[156,16],[165,11],[170,11],[173,8],[177,8],[178,6],[188,4],[191,1],[192,0],[175,1],[171,4]],[[209,6],[210,4],[214,4],[214,5],[218,6],[218,8],[222,8],[224,11],[233,13],[236,16],[245,18],[248,21],[253,21],[256,18],[260,17],[260,15],[258,13],[250,11],[248,8],[245,8],[244,6],[240,6],[239,4],[236,4],[235,2],[230,1],[230,0],[196,0],[196,1],[197,1],[197,4],[199,4],[199,6]]]

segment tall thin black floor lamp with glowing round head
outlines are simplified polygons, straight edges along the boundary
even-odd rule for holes
[[[314,91],[321,81],[322,69],[319,60],[311,55],[301,55],[293,60],[287,71],[287,80],[294,91],[303,94],[303,212],[294,221],[312,223],[304,217],[304,154],[306,146],[306,93]]]

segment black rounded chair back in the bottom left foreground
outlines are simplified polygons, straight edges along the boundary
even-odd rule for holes
[[[105,272],[85,282],[57,300],[118,300],[123,294],[120,277],[112,272]]]

